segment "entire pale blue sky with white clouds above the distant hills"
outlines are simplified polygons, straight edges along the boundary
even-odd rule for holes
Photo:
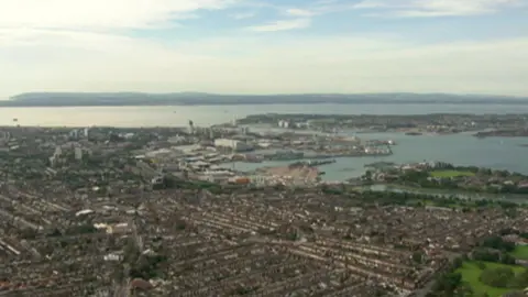
[[[528,0],[0,0],[29,91],[528,96]]]

